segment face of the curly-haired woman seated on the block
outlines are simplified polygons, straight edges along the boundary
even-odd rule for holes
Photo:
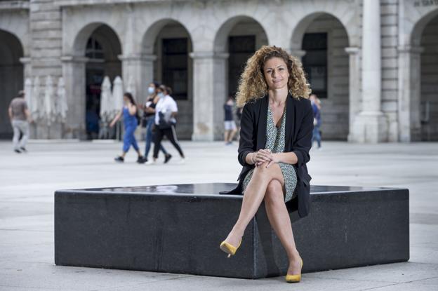
[[[263,75],[270,90],[287,87],[289,72],[286,62],[280,57],[272,57],[265,62]]]

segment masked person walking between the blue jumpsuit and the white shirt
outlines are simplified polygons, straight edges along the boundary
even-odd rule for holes
[[[142,158],[140,163],[147,163],[147,156],[149,155],[149,151],[151,148],[152,141],[154,140],[154,133],[152,133],[152,127],[154,126],[154,116],[155,116],[155,107],[157,106],[157,102],[159,100],[159,95],[157,94],[157,90],[159,88],[159,83],[152,82],[149,84],[147,88],[147,93],[149,96],[147,97],[146,103],[143,105],[143,124],[145,124],[146,128],[146,147],[145,147],[145,155]],[[160,144],[159,149],[164,154],[164,163],[167,163],[171,159],[171,154],[168,154],[166,149],[164,149],[163,145]],[[150,164],[150,163],[147,163]]]

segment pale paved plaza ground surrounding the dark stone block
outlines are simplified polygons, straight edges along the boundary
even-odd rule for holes
[[[119,142],[32,141],[28,154],[15,154],[11,142],[0,142],[0,290],[438,290],[437,143],[325,142],[322,150],[311,151],[314,185],[409,188],[409,262],[305,273],[293,285],[282,277],[244,280],[55,266],[56,189],[236,182],[237,144],[181,144],[187,155],[183,165],[167,142],[173,154],[167,165],[138,165],[133,151],[125,163],[113,161]]]

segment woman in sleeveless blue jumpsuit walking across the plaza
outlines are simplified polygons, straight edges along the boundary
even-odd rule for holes
[[[123,152],[120,156],[117,156],[114,158],[115,161],[119,163],[123,163],[125,160],[125,155],[128,152],[131,145],[137,151],[138,158],[137,163],[142,163],[143,157],[140,153],[140,149],[138,148],[137,141],[135,140],[135,129],[137,129],[138,126],[138,113],[137,113],[137,105],[135,104],[134,97],[131,95],[131,93],[125,93],[124,94],[124,107],[117,113],[117,115],[114,117],[113,121],[110,123],[110,127],[113,127],[114,124],[116,124],[117,121],[121,118],[123,115],[124,118],[124,126],[125,126],[125,134],[124,134],[124,145],[123,145]]]

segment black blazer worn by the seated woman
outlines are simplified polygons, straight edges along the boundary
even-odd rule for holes
[[[239,184],[235,189],[222,194],[241,195],[242,182],[246,174],[254,165],[245,162],[246,155],[264,149],[266,144],[266,122],[268,96],[245,104],[242,111],[239,163],[243,166],[239,174]],[[288,201],[288,212],[298,210],[300,217],[305,217],[310,210],[310,180],[307,173],[306,163],[310,161],[310,147],[312,147],[313,109],[310,100],[305,98],[293,98],[290,94],[286,99],[286,143],[285,152],[293,151],[298,157],[294,167],[297,173],[297,185],[295,191],[297,197]]]

